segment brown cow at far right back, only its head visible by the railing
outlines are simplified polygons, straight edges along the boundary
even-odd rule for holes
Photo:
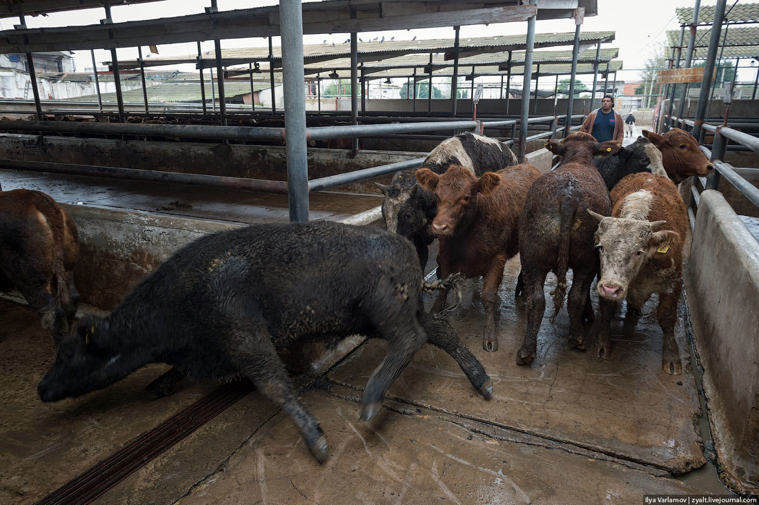
[[[696,139],[685,130],[672,128],[663,135],[644,130],[643,135],[661,151],[666,175],[675,184],[691,175],[706,177],[714,169],[707,156],[698,148]]]

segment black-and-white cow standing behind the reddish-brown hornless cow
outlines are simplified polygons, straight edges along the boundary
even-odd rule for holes
[[[479,177],[485,172],[497,172],[516,164],[516,156],[506,144],[467,132],[443,140],[418,168],[442,174],[449,166],[457,165]],[[414,242],[419,262],[424,268],[429,255],[427,246],[435,238],[430,231],[430,223],[435,217],[436,199],[434,194],[416,184],[416,170],[398,172],[389,186],[377,186],[385,195],[382,212],[388,231],[398,232]]]

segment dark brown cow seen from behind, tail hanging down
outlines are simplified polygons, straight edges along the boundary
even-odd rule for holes
[[[554,313],[564,305],[568,268],[572,269],[569,290],[569,345],[585,349],[582,321],[592,319],[587,304],[598,270],[593,250],[597,223],[587,218],[587,209],[609,214],[609,190],[593,163],[596,154],[611,155],[619,150],[614,140],[599,143],[591,135],[577,132],[561,142],[549,140],[546,147],[562,156],[559,167],[535,181],[519,216],[519,258],[527,301],[527,328],[517,352],[517,365],[531,365],[537,354],[537,330],[546,309],[543,284],[553,270],[558,285],[553,291]]]

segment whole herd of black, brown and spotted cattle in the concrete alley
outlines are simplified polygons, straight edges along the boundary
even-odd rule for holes
[[[585,325],[596,320],[590,290],[598,277],[591,333],[601,358],[611,352],[609,324],[620,302],[627,301],[625,325],[634,326],[658,293],[663,370],[681,373],[674,324],[687,216],[672,181],[711,167],[684,131],[644,133],[648,140],[630,147],[584,133],[549,140],[561,162],[543,175],[517,164],[497,140],[452,137],[416,171],[380,185],[387,231],[311,222],[206,235],[143,278],[111,314],[75,326],[74,220],[38,191],[0,191],[0,289],[17,287],[52,332],[57,355],[39,383],[43,401],[98,390],[152,362],[173,367],[150,384],[159,395],[185,376],[245,376],[287,412],[322,462],[326,437],[299,401],[279,351],[307,341],[334,346],[354,333],[386,339],[387,353],[361,399],[362,420],[376,414],[424,342],[451,355],[490,399],[493,382],[439,314],[452,309],[446,298],[461,277],[482,276],[482,343],[496,352],[497,292],[506,260],[517,253],[516,294],[528,317],[518,364],[536,357],[543,285],[553,271],[554,315],[567,298],[568,341],[578,349],[586,346]],[[423,269],[436,238],[439,280],[430,284]],[[440,290],[430,314],[425,289]]]

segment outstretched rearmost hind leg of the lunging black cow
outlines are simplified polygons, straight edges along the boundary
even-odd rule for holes
[[[490,399],[493,396],[493,380],[490,380],[480,361],[474,357],[464,342],[461,342],[458,333],[448,321],[435,319],[430,314],[422,312],[420,323],[424,327],[424,332],[427,333],[427,343],[442,349],[455,359],[474,389],[479,391],[485,399]]]

